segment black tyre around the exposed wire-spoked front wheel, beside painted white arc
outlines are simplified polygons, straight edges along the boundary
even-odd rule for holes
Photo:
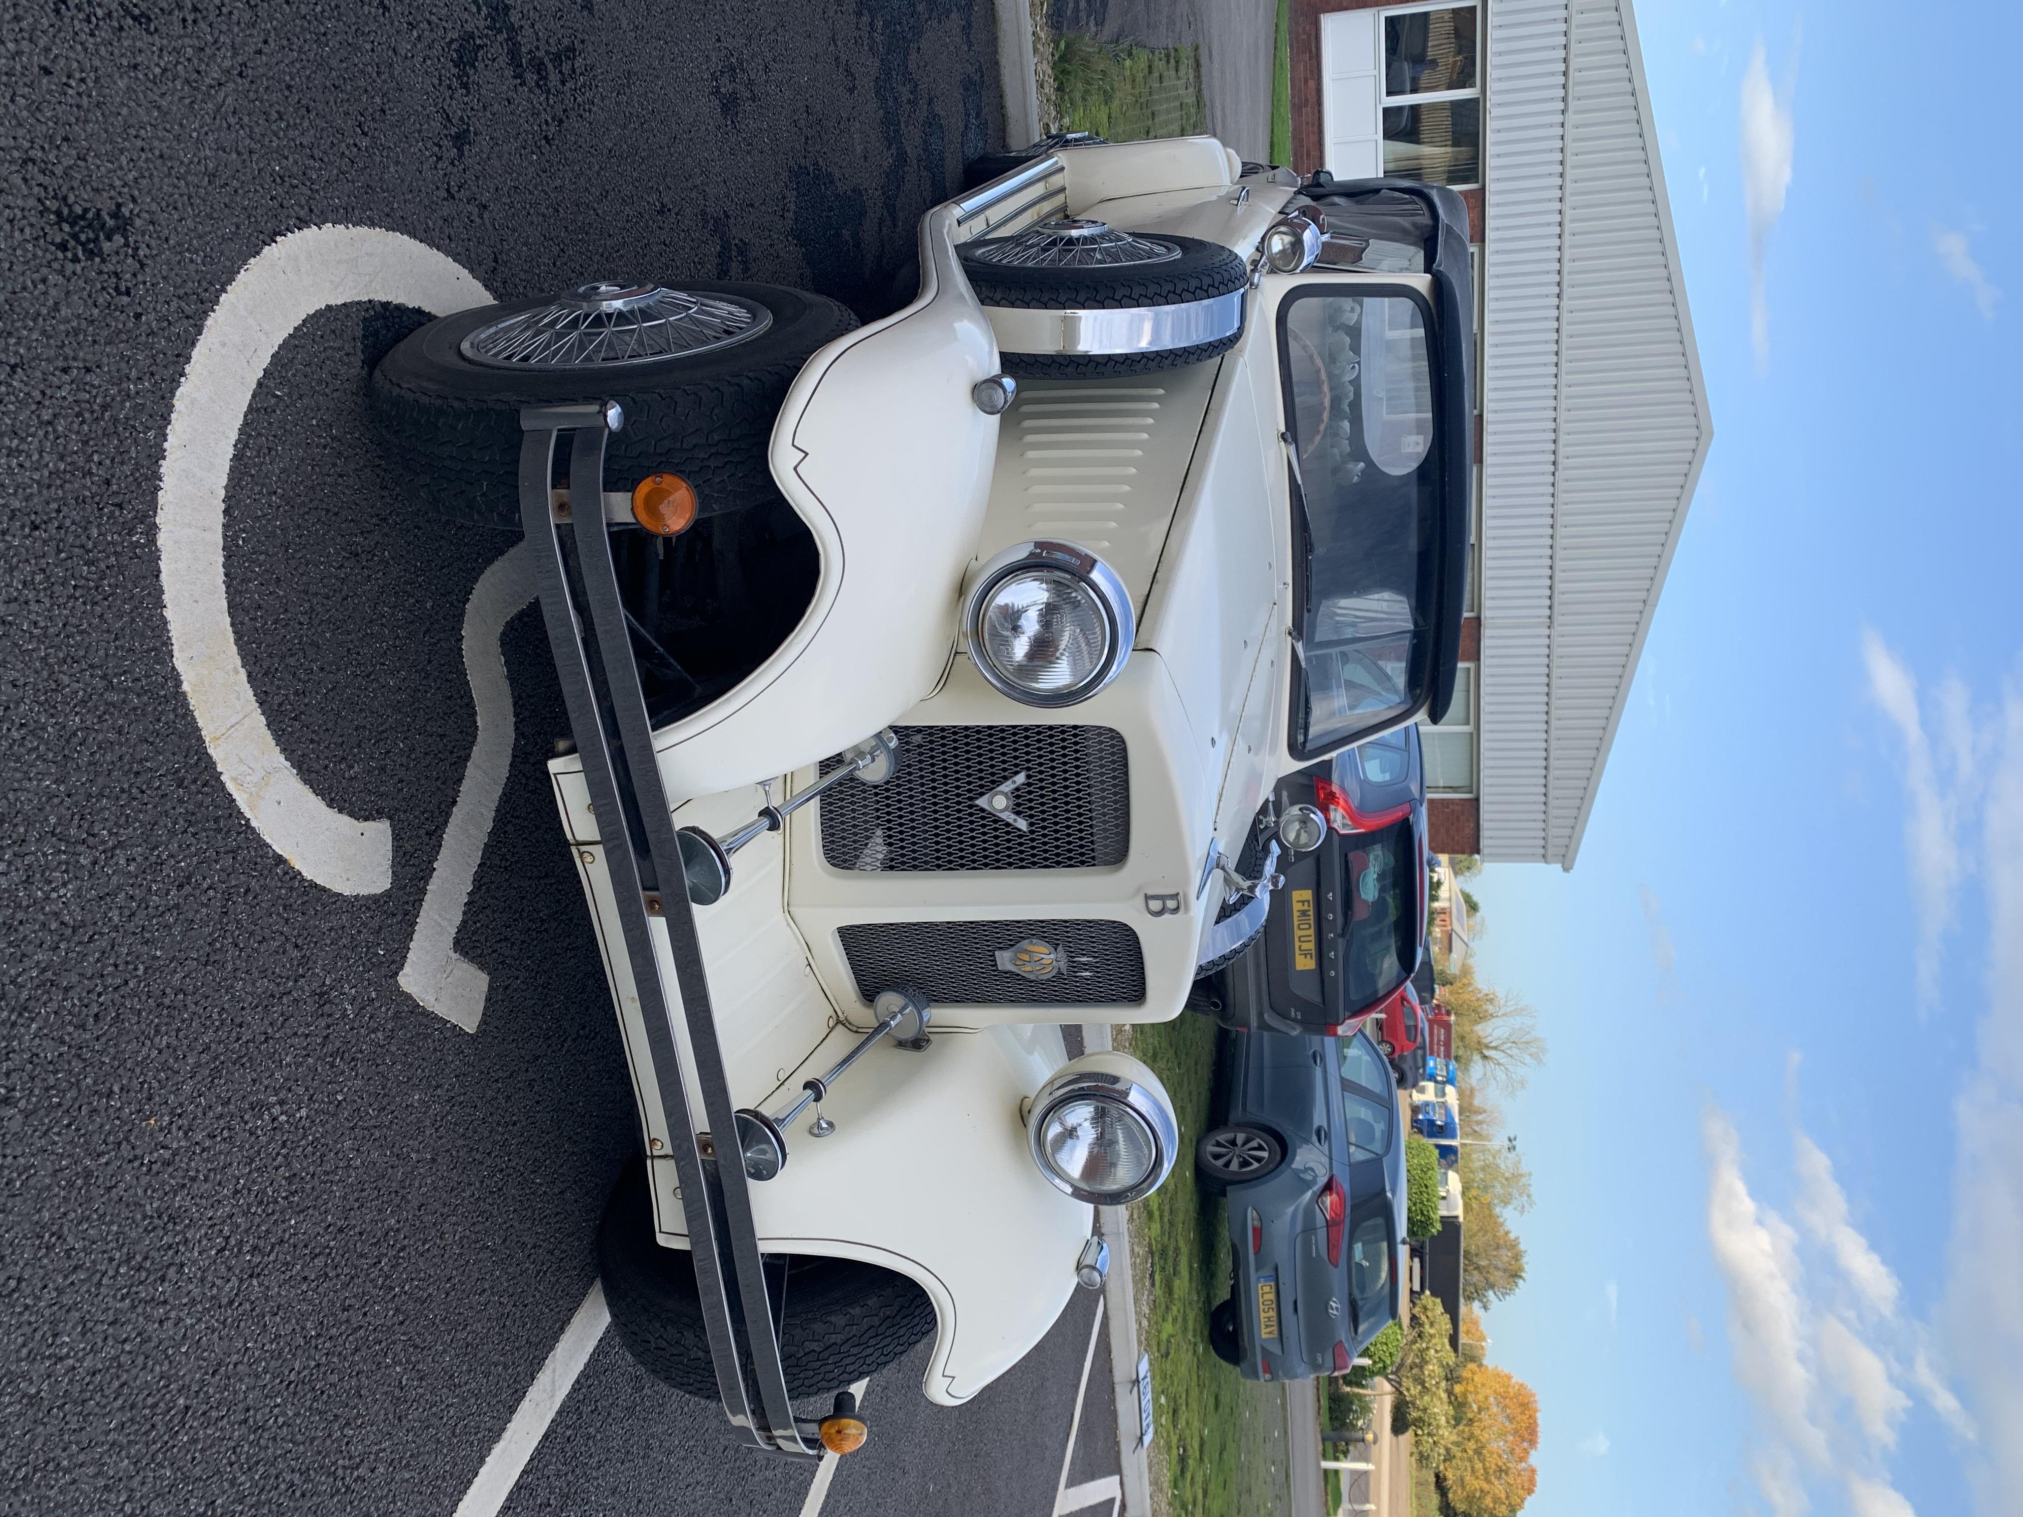
[[[694,356],[585,368],[494,368],[459,344],[481,326],[552,297],[479,305],[409,334],[372,374],[372,411],[394,463],[423,481],[437,510],[475,526],[520,530],[520,407],[617,400],[625,425],[605,455],[605,489],[674,471],[706,516],[777,500],[767,445],[795,374],[823,344],[856,328],[850,307],[785,285],[684,279],[694,293],[757,301],[773,324],[755,338]]]

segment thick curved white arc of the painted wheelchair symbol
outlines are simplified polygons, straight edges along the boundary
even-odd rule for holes
[[[378,227],[310,227],[269,243],[196,340],[168,419],[156,506],[168,637],[204,746],[259,835],[346,896],[392,884],[392,829],[326,805],[267,730],[225,599],[225,481],[247,405],[281,342],[326,305],[360,299],[443,316],[492,295],[455,259]]]

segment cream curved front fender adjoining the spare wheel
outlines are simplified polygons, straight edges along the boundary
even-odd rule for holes
[[[771,465],[815,536],[815,595],[742,684],[653,734],[672,799],[813,765],[941,682],[997,451],[971,400],[997,342],[955,233],[951,206],[931,210],[912,305],[815,352],[787,390]]]

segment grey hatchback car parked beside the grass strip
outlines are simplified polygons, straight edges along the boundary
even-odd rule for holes
[[[1230,1299],[1208,1321],[1244,1379],[1343,1373],[1398,1317],[1404,1131],[1370,1036],[1224,1032],[1222,1127],[1194,1167],[1230,1203]]]

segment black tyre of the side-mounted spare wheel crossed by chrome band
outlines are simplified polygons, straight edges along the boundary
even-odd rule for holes
[[[981,305],[1014,311],[1105,311],[1141,305],[1188,305],[1238,293],[1250,279],[1244,261],[1220,243],[1198,237],[1155,235],[1153,241],[1179,249],[1165,263],[1127,263],[1115,269],[1026,269],[985,263],[977,245],[959,251],[963,273]],[[1218,358],[1236,346],[1242,326],[1226,338],[1188,348],[1127,354],[1032,354],[1003,352],[999,362],[1020,378],[1098,378],[1155,374]]]

